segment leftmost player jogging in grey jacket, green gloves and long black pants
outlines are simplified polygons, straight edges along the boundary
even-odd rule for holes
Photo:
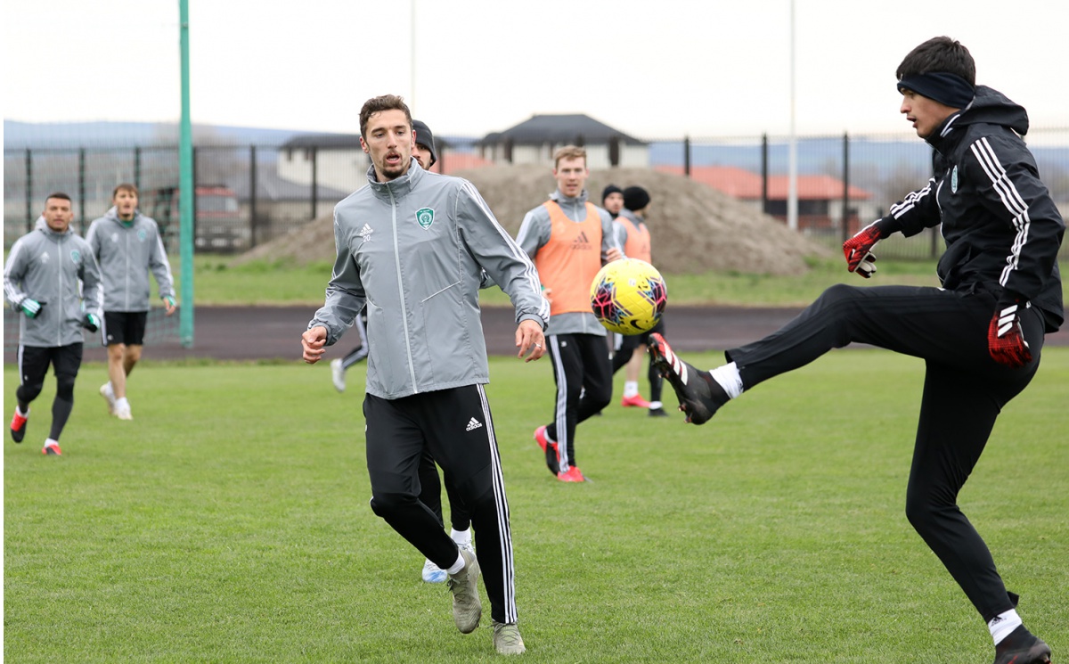
[[[74,383],[81,367],[82,327],[100,326],[100,271],[89,244],[71,230],[71,197],[45,200],[35,228],[15,241],[3,271],[4,296],[20,312],[18,379],[11,437],[21,443],[30,403],[41,395],[51,365],[56,374],[52,423],[41,451],[62,454],[60,434],[74,410]]]

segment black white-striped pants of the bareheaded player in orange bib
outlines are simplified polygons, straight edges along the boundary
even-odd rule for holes
[[[613,400],[613,361],[608,358],[605,337],[598,335],[549,335],[546,337],[553,358],[553,377],[557,382],[557,399],[553,421],[545,428],[557,442],[560,467],[567,470],[575,464],[575,428],[591,415],[601,413]],[[582,397],[580,397],[582,395]],[[546,454],[546,464],[554,470]]]

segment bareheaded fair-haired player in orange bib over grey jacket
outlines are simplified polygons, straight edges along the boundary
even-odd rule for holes
[[[613,399],[613,367],[605,327],[590,308],[590,282],[609,261],[623,258],[613,217],[587,200],[587,152],[566,145],[554,155],[557,190],[524,217],[516,242],[552,293],[546,328],[557,382],[554,418],[534,430],[546,466],[564,482],[585,481],[575,465],[575,428]]]

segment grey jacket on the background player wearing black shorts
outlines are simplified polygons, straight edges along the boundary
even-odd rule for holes
[[[86,241],[100,264],[105,311],[148,311],[149,272],[156,277],[160,297],[174,297],[174,277],[155,219],[140,212],[126,226],[115,209],[94,219]]]

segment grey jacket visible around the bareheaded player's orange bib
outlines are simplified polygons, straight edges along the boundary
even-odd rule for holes
[[[578,221],[587,216],[586,189],[575,198],[568,198],[560,192],[560,189],[557,189],[549,195],[549,200],[557,201],[560,209],[564,211],[564,215],[572,221]],[[602,265],[604,265],[607,262],[605,258],[606,252],[613,247],[622,252],[623,246],[620,244],[618,227],[613,220],[613,215],[601,207],[598,209],[598,214],[601,215],[602,221]],[[549,242],[549,233],[552,231],[553,225],[549,222],[549,212],[545,209],[545,205],[539,205],[524,217],[524,222],[520,225],[520,232],[516,233],[516,243],[533,260],[538,254],[538,250]],[[549,297],[553,297],[553,293],[549,294]],[[558,313],[549,321],[549,327],[546,328],[545,334],[597,335],[604,337],[606,330],[605,326],[594,318],[594,312],[591,310],[590,313]]]

